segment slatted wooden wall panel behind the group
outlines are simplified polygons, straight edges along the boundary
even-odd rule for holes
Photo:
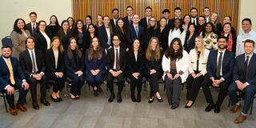
[[[224,16],[230,15],[232,26],[237,28],[238,4],[239,0],[73,0],[73,14],[75,20],[82,19],[83,21],[86,15],[91,15],[95,23],[97,14],[109,15],[111,18],[111,10],[114,8],[119,9],[119,17],[125,17],[126,6],[133,6],[134,14],[138,14],[140,18],[144,18],[144,9],[150,6],[157,19],[162,17],[164,9],[169,9],[170,18],[174,18],[175,7],[182,8],[182,16],[190,14],[191,7],[196,7],[199,16],[203,14],[203,8],[208,6],[212,13],[218,13],[220,22],[223,21]]]

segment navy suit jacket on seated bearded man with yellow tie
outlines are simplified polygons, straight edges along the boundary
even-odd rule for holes
[[[10,63],[13,68],[15,83],[18,83],[18,86],[22,86],[22,79],[25,79],[25,75],[23,74],[22,67],[19,64],[18,59],[10,57]],[[0,92],[2,92],[7,85],[10,85],[10,71],[2,56],[0,58],[0,66]]]

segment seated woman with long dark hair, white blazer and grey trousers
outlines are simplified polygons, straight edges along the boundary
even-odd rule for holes
[[[181,40],[174,38],[162,57],[163,79],[170,109],[176,109],[179,106],[182,83],[186,82],[189,75],[189,65],[190,58],[186,50],[183,50]]]

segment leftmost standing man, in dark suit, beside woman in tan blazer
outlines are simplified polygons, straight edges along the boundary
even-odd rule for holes
[[[28,30],[30,30],[30,34],[33,35],[35,32],[35,28],[38,26],[37,22],[38,14],[35,12],[30,13],[30,22],[26,24]]]

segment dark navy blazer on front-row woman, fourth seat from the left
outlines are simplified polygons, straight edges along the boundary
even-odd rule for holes
[[[72,58],[69,58],[67,55],[67,51],[65,51],[64,63],[65,63],[65,67],[66,67],[66,74],[68,76],[74,74],[78,70],[81,70],[83,72],[85,69],[85,61],[84,61],[83,54],[82,54],[81,58],[79,58],[79,56],[77,55],[77,65],[76,65],[74,62],[73,55],[72,55]]]

